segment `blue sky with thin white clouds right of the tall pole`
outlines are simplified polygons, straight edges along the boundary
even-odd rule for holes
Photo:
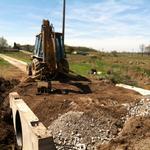
[[[106,0],[70,6],[66,41],[97,49],[131,50],[149,43],[150,9],[143,0]]]

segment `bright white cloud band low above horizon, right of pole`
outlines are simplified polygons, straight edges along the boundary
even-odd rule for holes
[[[103,39],[79,39],[72,38],[67,39],[66,43],[73,46],[87,46],[96,48],[98,50],[105,51],[139,51],[139,45],[142,43],[149,44],[149,39],[143,39],[141,37],[114,37],[114,38],[103,38]]]

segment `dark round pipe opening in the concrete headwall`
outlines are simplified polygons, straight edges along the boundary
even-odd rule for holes
[[[18,144],[19,148],[21,149],[22,146],[23,146],[23,137],[22,137],[21,119],[20,119],[20,114],[19,114],[18,111],[16,113],[15,124],[16,124],[16,139],[17,139],[17,144]]]

